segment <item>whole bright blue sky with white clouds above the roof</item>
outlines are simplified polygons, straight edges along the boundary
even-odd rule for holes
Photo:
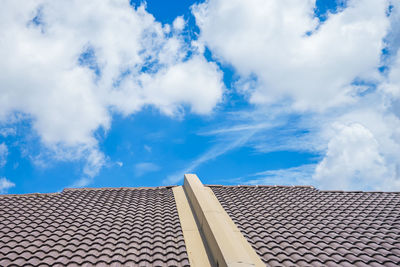
[[[0,193],[400,190],[397,0],[3,0]]]

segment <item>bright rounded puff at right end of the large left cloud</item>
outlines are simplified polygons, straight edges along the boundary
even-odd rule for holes
[[[137,81],[127,80],[120,91],[112,92],[112,101],[124,114],[129,114],[143,105],[154,105],[163,113],[173,116],[182,113],[182,105],[192,112],[208,114],[221,100],[222,75],[216,64],[207,62],[202,56],[177,63],[155,75],[142,74]],[[136,105],[132,105],[135,103]]]

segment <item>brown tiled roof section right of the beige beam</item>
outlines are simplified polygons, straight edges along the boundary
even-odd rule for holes
[[[400,266],[400,193],[210,187],[268,266]]]

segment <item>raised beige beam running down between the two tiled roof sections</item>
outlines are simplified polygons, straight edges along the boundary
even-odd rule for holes
[[[265,266],[209,187],[185,174],[183,190],[190,202],[213,266]]]

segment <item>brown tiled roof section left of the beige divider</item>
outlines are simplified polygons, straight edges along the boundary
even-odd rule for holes
[[[171,188],[0,197],[0,266],[187,266]]]

